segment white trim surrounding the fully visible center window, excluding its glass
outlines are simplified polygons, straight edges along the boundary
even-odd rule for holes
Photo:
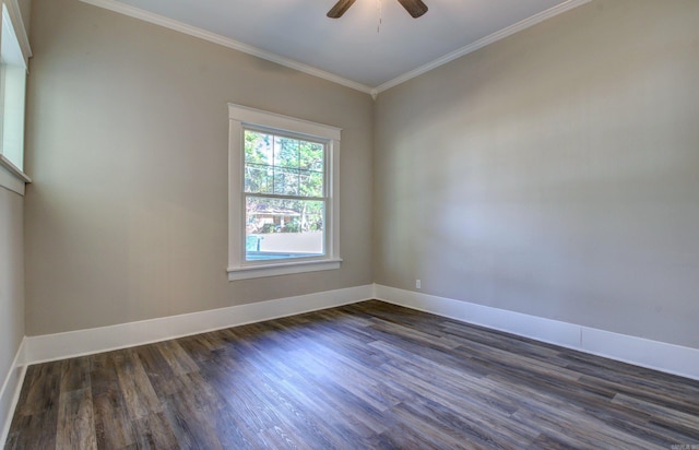
[[[342,263],[337,197],[342,129],[234,104],[228,104],[228,281],[339,269]],[[245,260],[242,138],[246,126],[264,127],[328,141],[327,164],[329,170],[325,214],[330,224],[325,230],[325,256],[322,258],[293,261],[275,260],[272,262]]]

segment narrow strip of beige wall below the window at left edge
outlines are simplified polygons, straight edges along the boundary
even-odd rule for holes
[[[24,338],[23,204],[21,196],[0,187],[0,394]],[[10,401],[12,392],[4,394],[0,401]],[[0,404],[0,413],[5,407]]]

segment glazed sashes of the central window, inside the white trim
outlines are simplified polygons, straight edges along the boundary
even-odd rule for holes
[[[244,127],[246,261],[324,254],[325,147]]]

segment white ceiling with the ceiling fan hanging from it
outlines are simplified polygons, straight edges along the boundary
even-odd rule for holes
[[[83,1],[376,94],[590,0],[424,0],[419,19],[357,0],[336,20],[335,0]]]

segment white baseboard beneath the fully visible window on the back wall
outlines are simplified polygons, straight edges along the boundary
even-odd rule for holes
[[[27,364],[132,347],[374,298],[374,285],[347,287],[110,327],[25,338]]]

